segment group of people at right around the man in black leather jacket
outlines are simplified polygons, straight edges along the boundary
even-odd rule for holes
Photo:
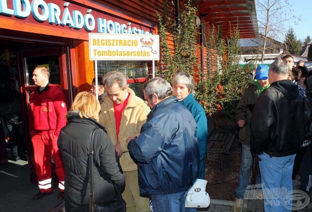
[[[243,209],[252,166],[257,173],[256,198],[265,201],[265,211],[291,211],[293,202],[286,192],[293,190],[299,167],[300,190],[311,192],[311,87],[302,62],[298,61],[294,67],[294,58],[285,55],[270,67],[258,66],[253,84],[241,97],[235,114],[240,127],[242,159],[234,212]],[[276,188],[285,189],[284,193],[272,196],[272,189]],[[289,208],[282,204],[285,201],[290,204]],[[301,203],[294,202],[297,206]],[[312,208],[312,203],[308,208]]]

